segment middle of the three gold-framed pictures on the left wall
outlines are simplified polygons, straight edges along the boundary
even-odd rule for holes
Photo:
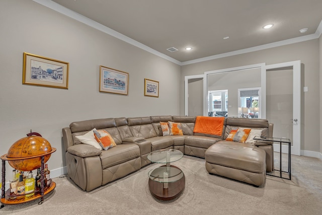
[[[100,92],[128,94],[129,74],[125,71],[100,66]]]

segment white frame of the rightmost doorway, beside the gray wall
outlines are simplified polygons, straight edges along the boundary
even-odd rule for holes
[[[289,66],[293,67],[293,146],[291,146],[291,154],[301,155],[301,61],[295,60],[266,65],[266,70]],[[297,121],[294,121],[294,119],[297,119]],[[280,152],[279,144],[274,144],[274,152]],[[282,145],[282,153],[288,153],[288,146]]]

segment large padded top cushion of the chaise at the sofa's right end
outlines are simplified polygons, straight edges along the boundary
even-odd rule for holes
[[[208,163],[254,173],[266,172],[266,153],[251,144],[222,140],[205,152]]]

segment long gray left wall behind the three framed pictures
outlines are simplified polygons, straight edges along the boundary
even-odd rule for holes
[[[0,155],[32,129],[57,148],[50,170],[62,169],[72,121],[180,114],[179,65],[33,1],[0,1],[0,19]],[[69,62],[68,90],[23,85],[23,52]],[[129,73],[128,96],[99,92],[100,65]],[[159,81],[159,98],[144,96],[144,78]]]

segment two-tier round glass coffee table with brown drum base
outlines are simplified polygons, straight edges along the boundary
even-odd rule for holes
[[[149,190],[152,196],[160,200],[177,198],[185,189],[185,174],[171,162],[180,160],[183,153],[174,149],[156,150],[148,154],[147,159],[152,163],[166,164],[150,170]]]

